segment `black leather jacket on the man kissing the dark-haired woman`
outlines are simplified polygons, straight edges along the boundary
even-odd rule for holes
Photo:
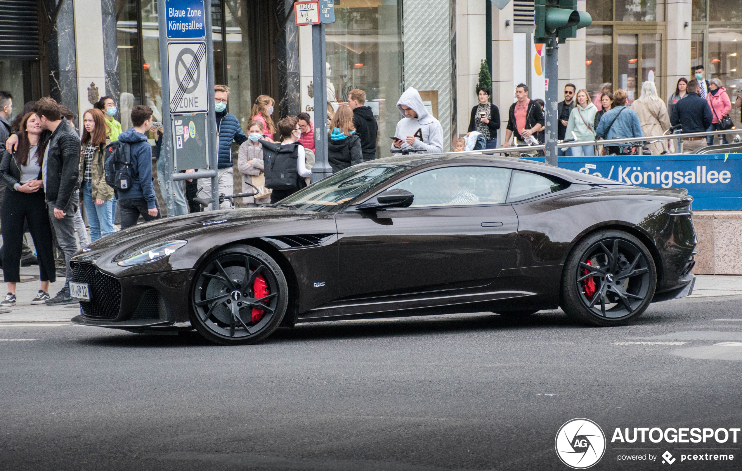
[[[47,159],[47,201],[64,211],[70,197],[77,190],[80,165],[80,138],[75,130],[62,118],[62,122],[49,137],[49,158]],[[46,149],[45,149],[46,150]]]

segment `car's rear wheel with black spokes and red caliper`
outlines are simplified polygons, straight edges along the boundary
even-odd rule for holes
[[[605,230],[577,243],[562,273],[562,309],[593,326],[620,326],[651,303],[657,271],[649,250],[631,234]]]

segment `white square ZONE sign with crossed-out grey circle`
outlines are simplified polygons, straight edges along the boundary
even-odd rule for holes
[[[209,111],[206,82],[206,42],[168,43],[170,113]]]

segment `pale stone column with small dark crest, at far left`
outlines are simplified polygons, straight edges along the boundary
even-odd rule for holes
[[[75,0],[75,43],[77,53],[77,115],[93,108],[105,96],[103,22],[99,0]]]

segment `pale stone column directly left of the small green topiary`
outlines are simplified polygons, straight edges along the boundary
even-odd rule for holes
[[[471,108],[479,103],[475,88],[479,80],[479,67],[481,67],[482,60],[487,59],[487,45],[482,41],[482,38],[487,36],[485,1],[490,0],[462,1],[456,5],[456,84],[458,88],[456,94],[459,103],[459,136],[467,133]],[[493,73],[496,68],[499,68],[499,65],[494,61]],[[491,84],[485,85],[491,90]],[[494,99],[493,102],[497,104]]]

